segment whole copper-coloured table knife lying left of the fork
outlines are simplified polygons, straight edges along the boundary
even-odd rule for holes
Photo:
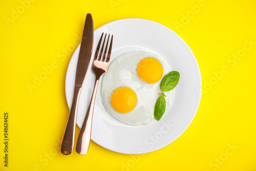
[[[83,28],[80,52],[76,68],[76,81],[72,105],[69,113],[66,131],[64,133],[60,148],[61,153],[64,155],[71,154],[74,147],[78,101],[82,90],[82,83],[84,78],[86,77],[88,67],[92,58],[93,32],[93,18],[91,14],[87,14],[86,22]]]

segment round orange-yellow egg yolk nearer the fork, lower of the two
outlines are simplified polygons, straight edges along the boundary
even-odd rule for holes
[[[110,101],[117,112],[127,113],[135,108],[137,96],[132,89],[120,87],[112,93]]]

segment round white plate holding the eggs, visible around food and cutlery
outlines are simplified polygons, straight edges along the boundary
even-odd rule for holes
[[[176,140],[196,115],[201,99],[201,74],[197,60],[185,41],[169,28],[145,19],[120,19],[94,31],[93,56],[102,32],[114,35],[111,61],[131,51],[146,51],[164,58],[172,71],[180,73],[170,109],[160,121],[132,126],[113,118],[101,101],[101,80],[96,96],[92,137],[97,144],[124,154],[156,151]],[[66,75],[66,97],[71,108],[80,45],[74,52]],[[93,61],[93,60],[92,60]],[[110,62],[111,62],[110,61]],[[92,62],[91,62],[92,64]],[[94,74],[90,68],[83,82],[78,105],[77,125],[81,127],[90,102]],[[101,78],[102,79],[102,78]]]

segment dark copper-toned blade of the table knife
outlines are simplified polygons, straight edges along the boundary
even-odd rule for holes
[[[92,58],[93,32],[93,18],[91,14],[87,14],[76,68],[75,86],[78,87],[82,87],[83,80],[86,77]]]

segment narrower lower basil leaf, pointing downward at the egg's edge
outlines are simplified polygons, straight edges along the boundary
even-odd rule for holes
[[[163,113],[165,111],[165,107],[166,107],[166,101],[165,101],[164,95],[161,95],[157,99],[157,102],[156,102],[155,108],[154,108],[154,116],[155,116],[156,120],[161,119],[161,117],[163,116]]]

